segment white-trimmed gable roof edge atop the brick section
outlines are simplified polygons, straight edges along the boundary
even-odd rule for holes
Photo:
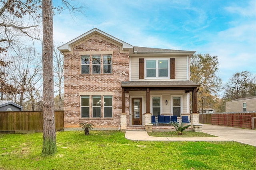
[[[65,52],[65,51],[71,51],[71,46],[76,44],[77,42],[80,42],[81,40],[85,39],[86,37],[89,37],[93,34],[100,34],[108,39],[111,39],[112,41],[118,43],[118,44],[121,44],[122,45],[122,50],[128,50],[129,48],[133,48],[132,45],[122,41],[122,40],[119,40],[118,38],[114,37],[114,36],[111,36],[109,34],[107,34],[106,32],[103,32],[101,30],[99,30],[98,28],[93,28],[92,30],[78,36],[77,38],[71,40],[70,42],[67,42],[66,44],[63,44],[62,46],[58,47],[58,49],[61,51],[61,52]]]

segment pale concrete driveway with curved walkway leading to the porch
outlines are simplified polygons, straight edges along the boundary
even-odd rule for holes
[[[201,138],[174,138],[174,137],[154,137],[148,136],[144,130],[127,131],[125,138],[129,140],[143,141],[236,141],[244,144],[256,146],[256,130],[247,130],[241,128],[232,128],[226,126],[214,126],[203,124],[202,132],[212,134],[218,137]]]

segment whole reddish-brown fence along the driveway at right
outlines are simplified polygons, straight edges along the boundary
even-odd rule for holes
[[[256,129],[256,112],[243,112],[243,113],[214,113],[214,114],[199,114],[199,122],[222,126],[233,126]]]

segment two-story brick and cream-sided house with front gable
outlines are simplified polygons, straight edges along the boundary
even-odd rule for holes
[[[198,123],[198,114],[189,113],[190,92],[197,112],[199,85],[189,71],[195,51],[132,46],[97,28],[58,49],[64,55],[65,128],[90,122],[117,129],[126,115],[133,129],[144,126],[145,113],[188,115]]]

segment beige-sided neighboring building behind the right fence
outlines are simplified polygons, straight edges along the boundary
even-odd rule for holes
[[[255,112],[256,96],[226,102],[226,112]]]

